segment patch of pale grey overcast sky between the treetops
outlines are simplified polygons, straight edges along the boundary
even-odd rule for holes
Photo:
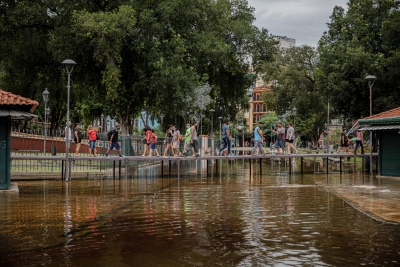
[[[347,0],[247,0],[255,8],[255,25],[270,34],[296,39],[296,46],[316,47],[327,30],[335,6],[347,8]]]

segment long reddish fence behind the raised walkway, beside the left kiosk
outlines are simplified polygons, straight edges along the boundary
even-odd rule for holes
[[[122,153],[127,156],[141,156],[144,152],[144,143],[140,137],[120,136],[120,144]],[[45,141],[46,140],[46,141]],[[45,144],[46,143],[46,147]],[[211,141],[207,142],[210,146]],[[202,140],[199,140],[199,145],[202,146]],[[97,156],[104,156],[109,146],[107,140],[107,133],[100,133],[100,140],[96,141],[96,154]],[[87,172],[87,173],[108,173],[113,168],[112,160],[104,161],[90,161],[90,160],[74,160],[77,144],[73,141],[70,145],[69,155],[72,159],[71,171],[72,172]],[[156,149],[160,156],[164,155],[166,144],[164,138],[158,138]],[[184,141],[180,142],[179,150],[183,151]],[[11,131],[11,154],[22,155],[22,156],[61,156],[64,157],[66,152],[66,143],[64,139],[63,130],[18,130],[12,129]],[[146,151],[146,156],[149,151]],[[189,151],[189,154],[191,152]],[[117,152],[110,151],[109,156],[117,156]],[[154,155],[154,153],[153,153]],[[171,152],[168,151],[168,156],[171,156]],[[87,134],[84,132],[84,137],[81,142],[79,149],[79,156],[89,157],[89,140]],[[160,159],[161,160],[161,159]],[[26,160],[26,159],[14,159],[11,162],[11,171],[18,173],[30,173],[30,172],[41,172],[41,173],[60,173],[63,169],[64,162],[59,159],[54,160]],[[122,162],[123,168],[125,168],[125,162]],[[132,165],[132,162],[130,163]],[[139,161],[135,162],[134,165],[148,165],[149,162]],[[152,162],[152,164],[158,164],[158,162]],[[128,166],[132,167],[132,166]]]

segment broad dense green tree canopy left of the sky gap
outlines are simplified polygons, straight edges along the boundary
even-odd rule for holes
[[[60,63],[69,58],[78,63],[75,121],[107,113],[129,130],[145,110],[181,122],[199,112],[195,91],[206,83],[206,112],[233,118],[248,107],[248,58],[257,65],[275,49],[254,19],[245,0],[2,1],[0,86],[33,99],[47,87],[56,128],[66,112]]]

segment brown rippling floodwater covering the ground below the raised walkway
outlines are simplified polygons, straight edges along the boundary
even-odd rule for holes
[[[149,167],[128,179],[18,182],[19,195],[0,195],[0,266],[400,265],[400,227],[330,194],[323,185],[338,175],[260,178],[256,166],[251,178],[238,160],[229,177],[224,164],[206,177],[189,162],[180,179]]]

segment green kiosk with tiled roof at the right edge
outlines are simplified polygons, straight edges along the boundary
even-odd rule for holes
[[[360,130],[376,132],[378,175],[400,178],[400,107],[358,120]]]

